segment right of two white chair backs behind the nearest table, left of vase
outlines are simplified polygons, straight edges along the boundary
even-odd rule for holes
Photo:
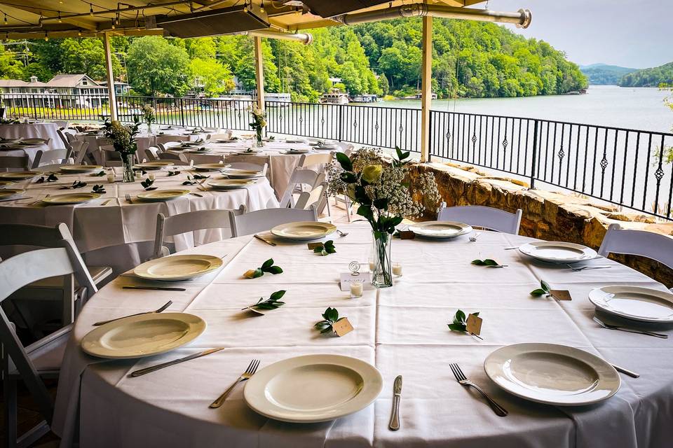
[[[257,232],[265,232],[279,224],[294,223],[297,221],[318,221],[318,211],[315,207],[308,210],[301,209],[263,209],[237,216],[229,211],[231,235],[241,237]]]

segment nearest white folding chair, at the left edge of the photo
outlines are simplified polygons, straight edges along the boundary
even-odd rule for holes
[[[97,292],[81,256],[70,241],[62,239],[58,247],[21,253],[0,263],[0,303],[20,288],[54,276],[64,276],[71,285],[75,277],[81,285],[82,295]],[[0,307],[6,446],[28,447],[49,431],[54,405],[43,379],[58,377],[71,329],[72,325],[67,325],[29,346],[23,346],[13,324]],[[43,417],[43,421],[22,435],[18,435],[17,428],[16,386],[19,379],[25,382]]]

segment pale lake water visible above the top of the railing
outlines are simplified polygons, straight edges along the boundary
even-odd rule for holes
[[[523,98],[438,99],[433,101],[433,109],[672,132],[673,111],[663,102],[671,92],[655,87],[616,85],[592,85],[588,92]],[[379,102],[376,106],[420,109],[421,102],[395,100]]]

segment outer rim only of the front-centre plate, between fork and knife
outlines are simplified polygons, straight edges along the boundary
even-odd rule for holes
[[[362,377],[362,379],[365,381],[365,386],[363,386],[362,391],[360,391],[356,397],[351,398],[351,400],[348,400],[347,402],[332,408],[341,409],[340,411],[332,412],[329,415],[325,414],[325,412],[322,412],[322,414],[314,412],[313,416],[307,415],[292,418],[279,415],[277,412],[273,412],[273,409],[265,410],[264,408],[260,407],[259,404],[264,404],[265,401],[267,405],[273,405],[271,402],[264,399],[261,399],[258,402],[254,397],[255,388],[259,388],[261,391],[264,391],[268,381],[273,379],[276,374],[283,372],[283,369],[287,367],[299,367],[301,365],[311,365],[318,363],[331,363],[332,365],[339,365],[341,367],[350,368],[351,370],[354,370],[360,374],[360,377]],[[271,376],[268,377],[268,375]],[[365,375],[371,375],[372,378],[365,378]],[[365,407],[371,405],[376,400],[376,398],[379,398],[381,391],[383,391],[383,375],[381,375],[381,372],[376,368],[376,366],[352,356],[335,355],[331,353],[316,353],[311,355],[285,358],[283,360],[276,361],[276,363],[267,365],[263,369],[259,370],[252,376],[252,378],[247,380],[245,388],[243,389],[243,399],[254,412],[257,412],[258,414],[266,416],[270,419],[286,421],[290,423],[320,423],[323,421],[333,421],[335,419],[339,419],[340,417],[365,409]],[[259,394],[259,392],[257,392],[257,394]],[[264,397],[264,395],[264,393],[259,394],[261,397]]]

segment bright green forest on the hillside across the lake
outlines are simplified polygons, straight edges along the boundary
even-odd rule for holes
[[[421,20],[389,20],[311,30],[311,45],[263,40],[265,88],[314,102],[332,83],[351,94],[403,96],[420,86]],[[14,44],[14,45],[12,45]],[[114,73],[137,94],[181,96],[198,85],[226,94],[233,76],[254,88],[252,38],[114,37]],[[7,42],[0,77],[49,80],[56,73],[104,78],[97,38]],[[587,86],[578,66],[544,41],[483,22],[438,19],[433,33],[433,92],[442,97],[520,97],[561,94]]]

